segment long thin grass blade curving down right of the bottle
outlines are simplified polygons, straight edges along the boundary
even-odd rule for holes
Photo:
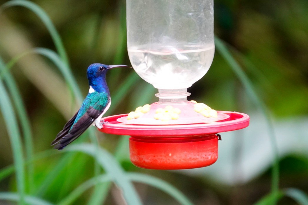
[[[270,142],[271,147],[273,150],[273,169],[272,169],[272,185],[271,185],[271,192],[272,194],[276,195],[276,192],[278,192],[279,189],[279,161],[278,161],[278,148],[277,148],[277,141],[275,137],[274,132],[274,126],[270,119],[270,115],[268,114],[268,110],[266,109],[265,104],[261,101],[261,99],[257,96],[256,92],[253,89],[252,83],[250,82],[249,78],[243,72],[241,66],[237,63],[237,61],[233,58],[223,41],[219,39],[218,37],[215,37],[215,46],[217,50],[221,53],[221,56],[225,58],[227,63],[232,68],[233,72],[237,75],[237,77],[240,79],[241,83],[243,84],[247,94],[249,95],[252,102],[257,106],[262,114],[265,116],[265,119],[267,121],[268,130],[270,133]],[[277,202],[274,202],[276,204]]]

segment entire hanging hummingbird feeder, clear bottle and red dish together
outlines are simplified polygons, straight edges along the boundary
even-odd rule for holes
[[[218,133],[249,125],[247,114],[187,101],[187,88],[214,57],[213,0],[127,0],[128,55],[138,75],[158,88],[159,102],[103,118],[99,131],[129,135],[130,159],[149,169],[213,164]]]

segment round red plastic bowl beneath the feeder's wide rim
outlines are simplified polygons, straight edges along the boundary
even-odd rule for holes
[[[190,169],[206,167],[217,161],[216,135],[192,139],[131,137],[130,159],[134,165],[147,169]]]

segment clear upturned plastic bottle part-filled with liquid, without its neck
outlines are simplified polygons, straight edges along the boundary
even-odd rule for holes
[[[128,55],[160,90],[187,89],[214,57],[213,0],[127,0]]]

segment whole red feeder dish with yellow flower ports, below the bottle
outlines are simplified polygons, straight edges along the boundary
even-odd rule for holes
[[[148,169],[209,166],[218,157],[217,133],[249,125],[247,114],[215,111],[203,103],[152,103],[129,114],[103,118],[99,131],[129,135],[130,159]]]

